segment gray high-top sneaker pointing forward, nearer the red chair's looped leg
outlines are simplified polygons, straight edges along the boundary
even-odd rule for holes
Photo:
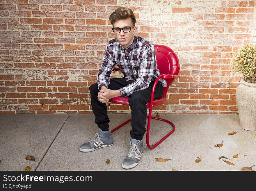
[[[130,138],[130,148],[126,155],[122,167],[130,169],[138,165],[143,154],[143,141]]]

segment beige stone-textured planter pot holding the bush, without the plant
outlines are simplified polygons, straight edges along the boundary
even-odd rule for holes
[[[236,90],[236,101],[241,128],[256,131],[256,83],[241,79]]]

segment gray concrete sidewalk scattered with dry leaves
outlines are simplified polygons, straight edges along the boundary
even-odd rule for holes
[[[130,117],[130,114],[109,114],[110,128]],[[238,171],[256,165],[256,131],[242,129],[238,115],[160,114],[160,117],[175,124],[174,133],[155,149],[147,147],[145,135],[143,156],[129,170]],[[94,119],[93,114],[0,115],[0,170],[24,170],[26,166],[33,171],[126,170],[121,165],[129,149],[131,123],[113,132],[113,146],[89,153],[79,151],[79,146],[97,133]],[[170,130],[169,124],[152,119],[150,143],[156,143]],[[214,147],[222,142],[222,147]],[[236,154],[239,157],[233,158]],[[34,156],[36,161],[26,160],[26,155]],[[220,156],[235,165],[219,160]],[[197,157],[200,163],[195,163]],[[155,158],[170,160],[159,163]],[[109,164],[105,163],[107,159]]]

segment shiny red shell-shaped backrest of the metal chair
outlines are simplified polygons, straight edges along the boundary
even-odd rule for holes
[[[161,74],[174,74],[179,73],[179,58],[170,47],[165,45],[154,44],[155,54],[157,58],[157,68]],[[165,79],[167,81],[167,87],[163,88],[163,97],[166,97],[168,88],[173,82],[174,78]]]

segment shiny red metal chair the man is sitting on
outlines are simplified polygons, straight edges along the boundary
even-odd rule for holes
[[[152,107],[159,106],[161,104],[166,103],[166,93],[168,91],[170,84],[174,81],[175,78],[179,78],[179,76],[178,76],[179,59],[178,59],[176,53],[174,53],[171,48],[169,48],[165,45],[155,44],[154,47],[155,47],[155,54],[156,54],[156,58],[157,58],[157,67],[158,67],[161,75],[156,79],[156,81],[153,85],[153,88],[152,88],[150,102],[147,103],[147,108],[149,108],[149,114],[147,116],[148,121],[147,121],[146,142],[147,142],[147,147],[150,149],[154,149],[155,147],[157,147],[157,145],[159,145],[163,140],[165,140],[175,130],[175,125],[172,122],[170,122],[166,119],[152,117],[151,115],[152,115]],[[117,71],[117,70],[120,70],[120,69],[114,68],[113,71]],[[163,97],[162,98],[153,99],[155,87],[160,78],[163,78],[167,82],[167,87],[163,88]],[[113,102],[113,103],[118,103],[118,104],[129,106],[128,99],[129,99],[129,97],[124,97],[124,98],[115,97],[115,98],[110,99],[109,101]],[[159,140],[156,144],[154,144],[152,146],[150,146],[150,144],[149,144],[149,133],[150,133],[151,119],[157,119],[160,121],[167,122],[173,127],[172,131],[170,131],[161,140]],[[117,126],[113,130],[111,130],[111,132],[114,132],[115,130],[117,130],[118,128],[122,127],[123,125],[127,124],[130,121],[131,121],[131,119],[127,120],[126,122],[122,123],[121,125]]]

